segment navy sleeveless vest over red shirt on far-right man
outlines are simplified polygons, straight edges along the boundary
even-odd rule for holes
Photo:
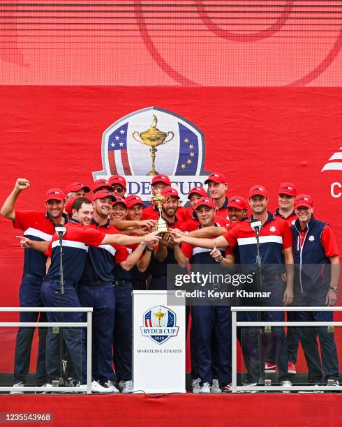
[[[322,231],[327,223],[311,217],[307,227],[304,245],[301,248],[299,220],[291,227],[292,250],[295,264],[299,264],[295,269],[295,285],[301,290],[311,290],[313,288],[330,283],[330,260],[325,255],[322,245]]]

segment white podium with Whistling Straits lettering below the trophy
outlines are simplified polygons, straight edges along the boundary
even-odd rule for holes
[[[185,305],[168,305],[168,292],[133,291],[135,391],[186,392]]]

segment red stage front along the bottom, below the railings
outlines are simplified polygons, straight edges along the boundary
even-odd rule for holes
[[[49,412],[50,425],[54,426],[330,427],[342,424],[341,397],[341,394],[263,393],[2,395],[0,412]]]

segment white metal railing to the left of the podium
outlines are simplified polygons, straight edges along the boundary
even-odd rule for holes
[[[0,387],[0,391],[86,391],[91,394],[91,329],[92,307],[0,307],[1,312],[72,312],[87,313],[87,322],[0,322],[0,327],[75,327],[87,328],[87,386],[80,387]],[[61,331],[59,331],[61,333]],[[81,357],[81,354],[80,354]]]

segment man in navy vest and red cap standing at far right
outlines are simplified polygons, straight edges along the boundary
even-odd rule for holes
[[[313,216],[313,201],[309,195],[295,198],[297,220],[291,227],[292,250],[295,264],[296,306],[334,306],[339,280],[339,248],[332,228]],[[299,311],[293,313],[294,321],[332,322],[331,311]],[[339,386],[339,360],[334,334],[327,327],[303,327],[299,329],[300,340],[308,364],[309,380],[321,380],[320,359],[316,335],[320,338],[324,380],[333,380]]]

